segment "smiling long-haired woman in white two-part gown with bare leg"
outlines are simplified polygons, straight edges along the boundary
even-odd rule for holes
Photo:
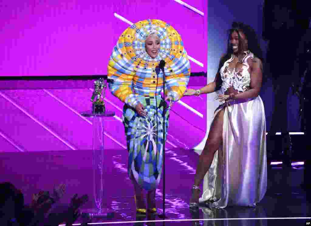
[[[259,96],[261,85],[262,51],[257,35],[250,26],[234,22],[214,82],[184,94],[199,96],[217,91],[221,102],[199,157],[191,208],[197,208],[199,201],[216,208],[255,206],[266,193],[266,121]]]

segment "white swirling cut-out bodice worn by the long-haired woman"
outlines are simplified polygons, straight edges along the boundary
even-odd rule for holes
[[[227,60],[224,65],[220,69],[220,77],[222,80],[222,86],[220,92],[222,94],[225,93],[231,86],[237,90],[239,93],[248,90],[251,82],[251,76],[248,71],[249,64],[247,63],[248,58],[253,59],[254,54],[250,51],[245,52],[246,55],[242,60],[242,68],[239,71],[235,71],[234,69],[229,68],[229,63],[234,59],[234,55],[232,54],[231,58]],[[231,70],[231,71],[230,71]]]

